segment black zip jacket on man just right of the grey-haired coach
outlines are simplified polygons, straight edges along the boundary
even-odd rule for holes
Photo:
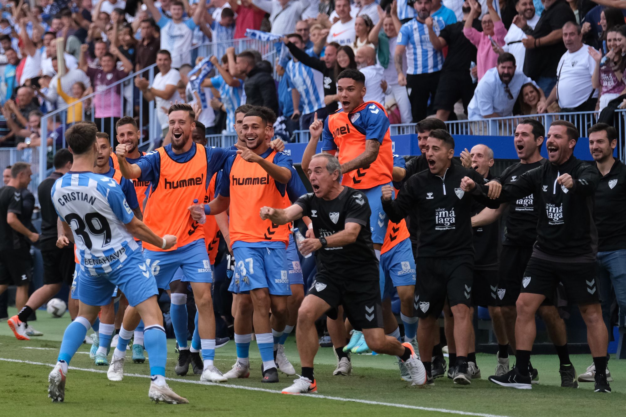
[[[500,203],[463,192],[463,177],[483,182],[475,170],[451,163],[443,178],[424,170],[404,183],[395,200],[382,200],[382,209],[392,222],[415,210],[420,232],[418,257],[474,255],[471,205],[475,198],[493,209]]]

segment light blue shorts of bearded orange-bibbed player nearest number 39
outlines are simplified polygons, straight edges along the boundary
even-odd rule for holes
[[[169,252],[144,249],[143,257],[156,278],[158,288],[170,289],[170,282],[174,281],[179,268],[183,271],[183,276],[180,277],[183,282],[213,282],[204,239],[195,240]]]

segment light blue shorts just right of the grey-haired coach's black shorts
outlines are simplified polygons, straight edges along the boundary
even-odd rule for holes
[[[394,287],[414,286],[416,276],[411,239],[407,238],[381,255],[382,299],[391,297]]]

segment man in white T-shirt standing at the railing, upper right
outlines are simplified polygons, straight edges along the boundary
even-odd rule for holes
[[[563,43],[567,52],[557,66],[557,85],[546,101],[551,105],[558,101],[563,113],[593,111],[598,101],[598,91],[592,86],[595,60],[589,54],[590,46],[583,44],[580,26],[573,22],[563,25]]]

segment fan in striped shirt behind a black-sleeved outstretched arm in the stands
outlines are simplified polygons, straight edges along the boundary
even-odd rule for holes
[[[304,42],[299,34],[288,34],[287,39],[297,48],[304,50]],[[285,76],[297,92],[295,94],[292,91],[294,108],[298,108],[300,101],[302,101],[303,110],[300,116],[300,130],[309,128],[310,124],[313,123],[316,112],[317,117],[324,120],[328,115],[326,105],[324,104],[324,74],[293,58],[285,66]]]

